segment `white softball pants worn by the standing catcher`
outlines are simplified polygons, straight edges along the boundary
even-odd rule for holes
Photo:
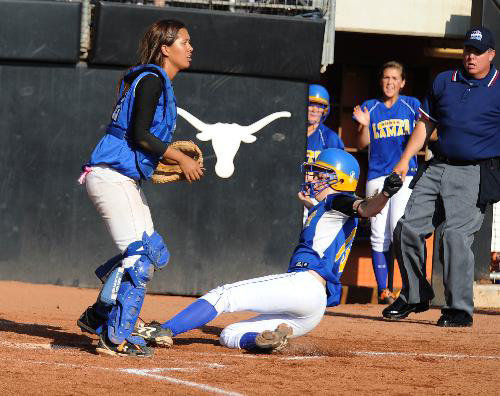
[[[85,185],[120,252],[140,241],[144,231],[148,235],[154,232],[146,197],[134,179],[106,165],[97,165],[87,174]],[[123,267],[132,266],[139,257],[125,258]]]

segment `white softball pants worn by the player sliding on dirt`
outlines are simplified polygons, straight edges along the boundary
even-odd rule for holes
[[[227,326],[220,343],[239,348],[248,332],[275,330],[281,323],[293,329],[298,337],[310,332],[321,321],[326,308],[326,290],[311,273],[291,272],[249,279],[217,287],[203,297],[224,312],[253,311],[261,315]]]

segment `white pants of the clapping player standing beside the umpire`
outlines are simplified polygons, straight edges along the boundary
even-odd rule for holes
[[[406,203],[410,199],[411,189],[408,187],[413,176],[407,176],[401,189],[394,194],[375,217],[370,217],[372,249],[376,252],[387,252],[392,242],[392,234],[396,224],[405,212]],[[366,196],[371,197],[382,191],[385,176],[377,177],[366,183]]]

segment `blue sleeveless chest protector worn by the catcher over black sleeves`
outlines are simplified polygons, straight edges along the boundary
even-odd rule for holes
[[[106,164],[134,180],[149,179],[160,158],[143,151],[130,143],[127,136],[135,99],[135,87],[148,74],[157,75],[162,80],[162,94],[156,105],[149,131],[165,143],[172,140],[177,120],[177,105],[174,91],[165,71],[156,65],[141,65],[132,68],[124,77],[130,83],[125,91],[120,87],[119,100],[115,105],[106,134],[92,152],[87,165]]]

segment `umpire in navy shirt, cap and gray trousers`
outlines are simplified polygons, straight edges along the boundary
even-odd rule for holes
[[[394,168],[404,178],[410,158],[438,128],[435,156],[422,169],[421,177],[414,178],[405,214],[394,230],[403,288],[396,301],[382,311],[385,318],[403,319],[429,309],[434,292],[426,280],[425,238],[443,223],[440,252],[446,304],[437,325],[472,326],[471,245],[481,228],[485,203],[500,198],[500,81],[491,63],[494,48],[488,29],[467,32],[463,66],[436,77],[420,108],[421,118]]]

